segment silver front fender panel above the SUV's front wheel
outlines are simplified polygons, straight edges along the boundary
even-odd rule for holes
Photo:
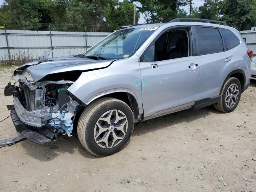
[[[124,67],[126,64],[128,66]],[[113,62],[108,68],[83,72],[68,91],[88,105],[92,101],[115,92],[126,92],[137,101],[139,114],[143,113],[138,58]]]

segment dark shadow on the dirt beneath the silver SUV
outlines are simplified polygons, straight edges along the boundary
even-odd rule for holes
[[[132,136],[140,136],[148,132],[154,132],[156,130],[165,128],[167,126],[180,124],[182,122],[189,123],[199,118],[205,118],[211,113],[219,114],[220,112],[214,110],[212,106],[208,106],[206,108],[198,110],[184,110],[159,118],[147,120],[145,122],[136,123]],[[150,128],[148,128],[149,124]],[[26,151],[26,154],[43,162],[51,161],[54,158],[61,156],[65,153],[74,154],[75,152],[79,152],[79,154],[84,156],[84,158],[101,158],[94,156],[90,154],[87,150],[85,150],[82,144],[80,144],[77,134],[74,134],[72,137],[57,137],[55,141],[52,141],[49,144],[45,145],[39,145],[30,140],[24,140],[23,142],[20,142],[20,144]]]

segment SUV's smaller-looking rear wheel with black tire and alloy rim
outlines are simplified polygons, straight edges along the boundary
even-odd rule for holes
[[[233,93],[234,89],[238,90],[238,93],[237,91]],[[229,93],[227,91],[229,91]],[[228,96],[230,93],[231,95]],[[229,77],[224,83],[224,86],[222,87],[220,101],[213,105],[214,108],[224,113],[229,113],[234,111],[234,109],[236,108],[236,106],[240,101],[241,93],[242,93],[242,89],[241,89],[240,81],[235,77]],[[227,100],[229,102],[226,102]],[[234,104],[235,100],[236,102]]]

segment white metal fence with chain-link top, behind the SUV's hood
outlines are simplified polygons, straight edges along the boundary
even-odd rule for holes
[[[54,47],[54,57],[80,54],[121,28],[0,21],[0,64],[21,64],[35,60],[45,50]]]

